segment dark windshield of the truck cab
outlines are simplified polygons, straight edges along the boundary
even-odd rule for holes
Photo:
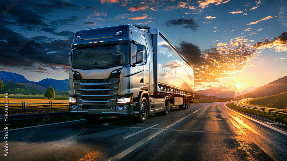
[[[79,47],[72,53],[72,68],[110,68],[129,64],[129,44]]]

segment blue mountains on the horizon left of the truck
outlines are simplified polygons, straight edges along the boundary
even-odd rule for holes
[[[12,72],[5,72],[5,71],[0,71],[0,79],[3,80],[3,83],[9,83],[10,78],[14,83],[19,83],[23,85],[38,85],[44,88],[49,88],[52,86],[54,90],[58,91],[69,91],[69,79],[62,79],[62,80],[57,80],[57,79],[52,79],[52,78],[46,78],[38,82],[33,82],[29,81],[26,79],[24,76]],[[35,86],[36,87],[36,86]],[[33,88],[33,86],[31,87]]]

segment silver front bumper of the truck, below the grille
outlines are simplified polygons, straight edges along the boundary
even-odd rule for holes
[[[117,107],[123,107],[122,109],[116,110]],[[71,114],[78,115],[98,115],[98,116],[126,116],[126,117],[137,117],[138,113],[135,111],[136,104],[116,106],[110,109],[82,109],[76,105],[69,105],[69,112]]]

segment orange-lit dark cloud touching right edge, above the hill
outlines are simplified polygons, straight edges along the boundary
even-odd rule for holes
[[[277,52],[287,51],[287,32],[282,32],[280,36],[274,37],[273,40],[265,39],[251,46],[253,49],[274,49]]]

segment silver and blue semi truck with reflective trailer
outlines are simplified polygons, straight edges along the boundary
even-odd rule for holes
[[[75,32],[69,53],[69,112],[101,116],[167,115],[187,109],[194,71],[158,28],[124,24]]]

